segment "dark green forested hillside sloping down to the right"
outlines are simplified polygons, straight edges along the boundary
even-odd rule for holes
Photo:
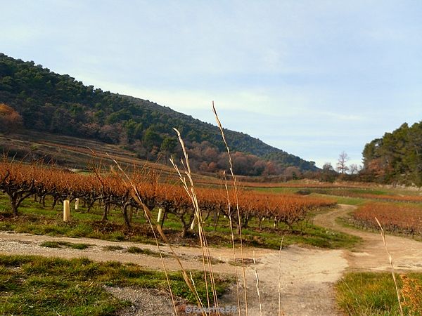
[[[172,130],[175,127],[190,149],[193,169],[215,172],[227,167],[224,144],[216,126],[149,100],[84,86],[68,74],[56,74],[34,62],[1,53],[0,103],[20,115],[25,129],[120,144],[140,158],[162,162],[170,154],[180,154]],[[229,130],[225,133],[234,151],[238,174],[281,174],[288,166],[316,170],[314,162],[257,138]]]

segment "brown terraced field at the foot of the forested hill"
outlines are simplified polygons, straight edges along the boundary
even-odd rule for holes
[[[20,159],[43,159],[44,164],[53,162],[69,169],[91,171],[94,166],[114,166],[117,160],[123,169],[148,168],[160,173],[162,180],[178,180],[171,166],[148,162],[136,157],[134,152],[120,145],[101,143],[95,140],[60,136],[51,133],[25,131],[21,134],[0,134],[0,150],[15,161]],[[216,178],[195,175],[200,182],[217,183]]]

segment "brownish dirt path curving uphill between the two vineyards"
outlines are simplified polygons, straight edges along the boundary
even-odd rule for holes
[[[356,206],[340,205],[340,208],[334,211],[316,216],[314,224],[362,238],[362,244],[357,246],[354,251],[346,253],[345,258],[347,258],[350,270],[389,270],[390,264],[379,233],[346,228],[335,220],[347,216],[347,213],[355,208]],[[422,271],[422,242],[392,235],[386,235],[385,239],[395,269]]]

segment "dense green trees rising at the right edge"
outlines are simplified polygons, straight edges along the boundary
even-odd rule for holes
[[[372,140],[363,156],[368,180],[422,186],[422,121]]]

